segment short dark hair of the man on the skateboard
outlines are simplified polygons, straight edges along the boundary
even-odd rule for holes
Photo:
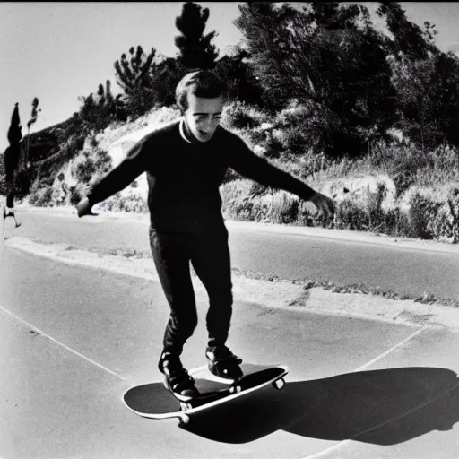
[[[210,70],[198,70],[186,74],[176,88],[176,103],[183,112],[188,108],[187,95],[214,99],[220,96],[227,97],[228,86]]]

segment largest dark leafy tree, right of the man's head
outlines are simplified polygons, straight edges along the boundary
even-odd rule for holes
[[[333,156],[366,152],[394,123],[385,40],[359,5],[313,2],[303,11],[268,2],[239,6],[235,21],[273,109],[301,106],[303,146]],[[300,150],[300,149],[299,149]]]

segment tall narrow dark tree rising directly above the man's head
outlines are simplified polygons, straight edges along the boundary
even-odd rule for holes
[[[176,26],[181,32],[175,38],[179,49],[178,60],[188,69],[212,69],[219,51],[212,44],[217,33],[204,35],[205,24],[209,19],[209,8],[202,8],[193,2],[183,5],[182,13],[176,18]]]

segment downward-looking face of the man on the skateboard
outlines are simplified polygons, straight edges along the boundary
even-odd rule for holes
[[[204,99],[188,94],[187,100],[188,108],[184,113],[186,126],[199,142],[210,141],[220,124],[221,111],[225,104],[223,96]]]

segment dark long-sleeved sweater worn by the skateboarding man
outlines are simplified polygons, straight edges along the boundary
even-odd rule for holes
[[[146,172],[152,228],[202,231],[222,218],[219,187],[228,168],[304,200],[314,194],[312,188],[258,157],[223,127],[217,127],[209,142],[188,143],[177,121],[145,135],[125,160],[92,186],[88,198],[92,205],[100,203]]]

